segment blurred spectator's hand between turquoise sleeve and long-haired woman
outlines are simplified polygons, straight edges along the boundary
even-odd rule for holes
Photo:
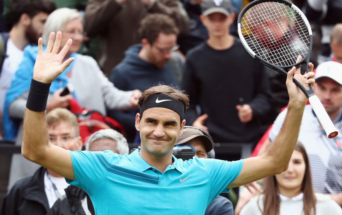
[[[257,182],[246,184],[245,187],[247,190],[244,190],[239,194],[239,200],[236,204],[234,215],[239,215],[242,208],[251,200],[251,198],[262,193],[262,189],[259,188]]]

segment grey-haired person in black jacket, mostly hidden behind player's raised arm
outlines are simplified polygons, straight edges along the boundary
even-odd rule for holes
[[[111,150],[118,154],[128,154],[126,138],[113,129],[103,129],[92,134],[86,144],[86,150]],[[65,189],[66,198],[58,199],[47,215],[95,215],[90,197],[81,188],[73,185]]]

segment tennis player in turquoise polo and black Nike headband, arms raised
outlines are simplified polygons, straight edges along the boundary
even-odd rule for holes
[[[42,39],[38,41],[24,118],[22,154],[86,191],[95,214],[203,215],[220,193],[287,169],[307,102],[292,76],[308,87],[308,83],[315,83],[310,78],[313,72],[301,75],[300,68],[294,67],[288,72],[287,117],[269,151],[259,157],[228,162],[196,156],[183,161],[172,156],[173,147],[183,134],[189,98],[165,85],[149,88],[139,98],[135,128],[140,132],[141,150],[130,155],[111,151],[71,152],[49,142],[45,123],[51,82],[74,60],[63,62],[72,40],[58,53],[62,33],[57,32],[53,45],[54,37],[51,33],[46,53],[42,50]],[[313,65],[309,66],[312,71]]]

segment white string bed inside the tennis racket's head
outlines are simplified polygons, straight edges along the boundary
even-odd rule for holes
[[[298,55],[307,55],[309,31],[302,17],[285,4],[254,5],[243,15],[241,30],[249,47],[275,65],[293,65]]]

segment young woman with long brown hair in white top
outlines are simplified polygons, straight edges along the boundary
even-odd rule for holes
[[[281,174],[264,179],[263,193],[252,198],[240,215],[337,215],[340,206],[323,194],[315,194],[310,164],[302,143],[298,142]]]

